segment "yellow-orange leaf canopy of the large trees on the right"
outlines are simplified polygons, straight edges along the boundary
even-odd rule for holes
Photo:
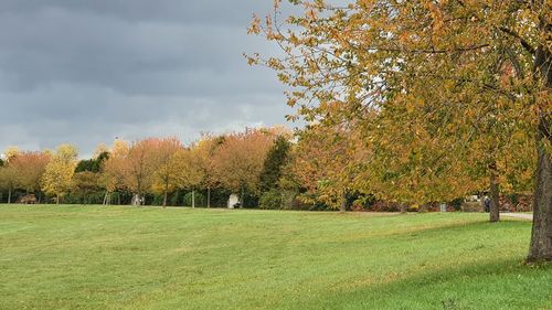
[[[373,148],[364,162],[364,170],[372,171],[362,171],[373,185],[363,181],[363,189],[423,200],[480,188],[477,167],[488,160],[489,146],[498,145],[499,157],[513,157],[519,153],[516,141],[528,139],[513,133],[513,127],[527,133],[552,109],[550,94],[539,93],[543,87],[532,77],[516,77],[510,63],[497,68],[505,43],[514,42],[497,35],[499,24],[535,46],[549,44],[523,3],[423,0],[390,10],[378,0],[351,1],[341,9],[307,2],[298,17],[283,19],[287,39],[267,36],[286,51],[280,63],[268,64],[294,87],[288,104],[307,120],[335,129],[347,119],[362,128],[359,145]],[[522,46],[508,47],[529,71],[532,56],[519,53]],[[333,104],[339,100],[342,105]],[[374,116],[367,117],[359,106],[373,107]],[[337,152],[343,146],[317,130],[322,132],[309,137],[314,146],[299,143],[309,154],[301,158],[300,174],[311,184],[311,179],[329,179],[344,186],[339,177],[350,171],[341,160],[355,160],[350,159],[355,149],[344,146]],[[314,178],[320,167],[329,171]]]

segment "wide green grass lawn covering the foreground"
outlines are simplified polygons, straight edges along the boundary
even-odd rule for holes
[[[0,309],[552,309],[485,214],[0,205]]]

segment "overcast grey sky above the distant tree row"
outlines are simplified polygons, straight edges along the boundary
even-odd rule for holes
[[[0,0],[0,150],[286,124],[284,86],[242,56],[278,52],[246,33],[272,3]]]

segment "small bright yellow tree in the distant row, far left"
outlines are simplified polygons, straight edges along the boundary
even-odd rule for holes
[[[56,204],[68,192],[77,164],[77,150],[70,145],[57,147],[52,160],[46,164],[41,180],[41,188],[49,195],[55,195]]]

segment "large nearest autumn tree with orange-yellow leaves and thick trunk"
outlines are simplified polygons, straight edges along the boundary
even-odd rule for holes
[[[411,131],[405,136],[414,141],[418,140],[416,129],[425,130],[435,145],[444,133],[453,133],[444,145],[466,154],[457,159],[478,163],[481,158],[469,149],[488,143],[487,152],[498,154],[490,156],[487,165],[495,180],[491,183],[499,178],[498,162],[492,159],[510,148],[502,143],[510,129],[533,137],[534,216],[528,260],[552,260],[552,23],[548,1],[293,3],[302,6],[305,13],[282,17],[280,1],[275,1],[275,13],[264,24],[255,18],[250,31],[263,33],[283,47],[285,56],[264,63],[294,88],[288,103],[305,118],[323,119],[331,114],[327,103],[340,103],[346,107],[340,109],[343,118],[367,125],[363,139],[371,145],[385,143],[400,130]],[[262,60],[253,55],[250,62]],[[434,108],[426,108],[427,104]],[[394,110],[399,116],[406,115],[405,110],[420,111],[423,117],[399,117],[395,126],[388,127],[392,130],[378,135],[381,127],[359,117],[369,109],[379,113],[378,122],[383,124]],[[481,117],[485,115],[490,117]],[[446,121],[450,116],[459,120]],[[429,117],[438,126],[426,127],[423,120]],[[384,136],[385,140],[373,140]],[[454,157],[442,158],[452,167],[446,162]],[[414,162],[425,165],[439,160],[427,152],[424,160]],[[425,195],[414,181],[423,179],[423,170],[429,168],[408,168],[408,173],[397,175],[406,179],[410,193]]]

